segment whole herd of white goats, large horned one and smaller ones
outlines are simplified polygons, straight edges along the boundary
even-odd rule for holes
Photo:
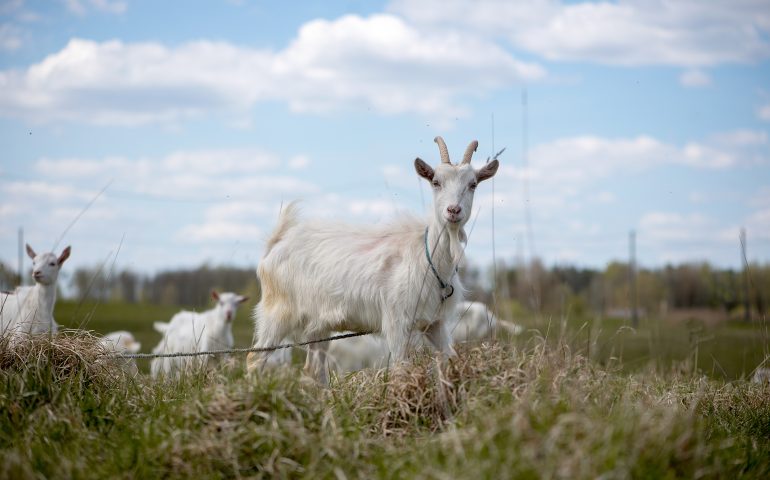
[[[290,350],[269,351],[271,346],[335,332],[375,334],[309,344],[305,371],[322,384],[328,383],[329,369],[348,372],[402,362],[422,346],[448,358],[456,355],[457,342],[488,337],[498,327],[520,332],[519,326],[496,319],[486,305],[463,301],[457,274],[474,193],[495,175],[498,160],[474,169],[471,157],[478,142],[473,141],[462,161],[453,164],[444,140],[435,142],[441,157],[435,168],[420,158],[414,161],[433,194],[427,218],[401,215],[387,224],[362,226],[302,218],[296,202],[282,209],[257,268],[262,298],[253,312],[253,345],[259,351],[249,353],[249,371],[291,362]],[[58,256],[37,254],[27,245],[35,283],[0,295],[0,334],[20,338],[57,331],[56,280],[70,252],[67,247]],[[232,348],[232,322],[247,298],[216,291],[212,297],[211,310],[182,311],[168,323],[156,322],[162,338],[153,353]],[[140,349],[126,331],[105,335],[102,342],[115,352]],[[151,373],[175,375],[207,358],[154,358]]]

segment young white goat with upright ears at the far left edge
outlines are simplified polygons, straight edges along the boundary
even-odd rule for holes
[[[65,248],[58,257],[53,253],[38,255],[27,245],[35,285],[0,293],[0,335],[57,332],[59,327],[53,319],[56,280],[71,250]]]

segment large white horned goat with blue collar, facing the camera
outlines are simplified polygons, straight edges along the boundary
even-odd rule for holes
[[[433,213],[407,216],[385,226],[301,221],[296,204],[280,215],[257,269],[262,301],[254,311],[255,346],[284,337],[316,339],[333,331],[382,332],[394,360],[406,359],[409,338],[424,332],[443,354],[454,356],[447,325],[453,323],[463,288],[456,269],[467,241],[465,223],[479,182],[491,178],[497,160],[471,166],[473,141],[462,163],[449,161],[436,137],[441,163],[434,170],[421,159],[417,174],[430,182]],[[326,384],[328,345],[312,344],[305,370]],[[266,360],[248,357],[249,370]]]

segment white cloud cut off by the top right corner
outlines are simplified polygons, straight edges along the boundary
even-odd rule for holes
[[[762,0],[396,0],[418,24],[508,38],[551,60],[703,67],[770,57],[770,9]]]

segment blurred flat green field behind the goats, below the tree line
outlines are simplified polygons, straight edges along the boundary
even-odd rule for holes
[[[248,347],[253,327],[252,304],[239,309],[233,322],[237,347]],[[149,352],[160,341],[152,328],[155,321],[168,321],[182,307],[151,304],[59,301],[54,316],[65,328],[86,328],[105,334],[128,330]],[[576,352],[600,364],[618,364],[623,371],[669,370],[673,367],[700,371],[710,377],[737,380],[750,376],[770,356],[770,325],[737,321],[705,321],[698,312],[680,314],[676,319],[643,318],[639,328],[627,320],[612,318],[518,315],[517,323],[527,328],[514,344],[523,345],[533,337],[564,341]],[[705,316],[705,314],[702,314]],[[149,362],[140,361],[148,371]]]

